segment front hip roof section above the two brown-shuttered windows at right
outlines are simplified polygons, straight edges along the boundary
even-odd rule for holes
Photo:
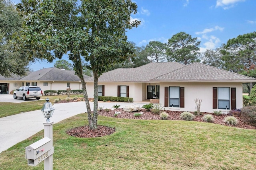
[[[157,78],[152,81],[233,81],[256,82],[255,78],[216,68],[202,63],[192,63]]]

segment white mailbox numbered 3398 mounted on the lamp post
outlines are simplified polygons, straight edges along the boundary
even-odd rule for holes
[[[26,159],[28,159],[28,165],[30,166],[36,166],[54,153],[54,147],[52,147],[51,139],[48,137],[29,145],[25,150]]]

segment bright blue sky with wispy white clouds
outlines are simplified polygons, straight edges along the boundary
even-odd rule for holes
[[[18,3],[19,0],[12,0]],[[132,20],[141,25],[127,31],[128,41],[146,46],[150,41],[167,43],[184,31],[197,37],[200,52],[216,49],[228,39],[256,31],[256,0],[134,0],[138,12]],[[68,60],[66,56],[63,59]],[[33,70],[52,67],[40,61]]]

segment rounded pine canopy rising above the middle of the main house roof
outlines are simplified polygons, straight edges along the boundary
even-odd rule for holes
[[[182,64],[189,64],[199,60],[200,41],[192,38],[191,35],[180,32],[168,40],[167,60],[176,61]]]

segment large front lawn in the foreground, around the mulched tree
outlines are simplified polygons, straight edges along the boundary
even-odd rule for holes
[[[79,114],[54,124],[55,170],[256,169],[256,131],[196,121],[98,117],[116,127],[112,135],[77,138],[66,130],[87,124]],[[27,165],[25,147],[43,131],[0,154],[1,170],[43,169]]]

